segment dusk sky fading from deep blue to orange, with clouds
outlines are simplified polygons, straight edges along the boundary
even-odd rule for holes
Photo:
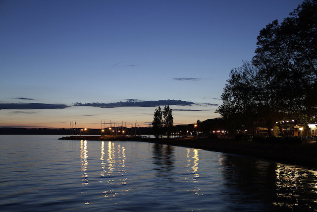
[[[0,0],[0,127],[219,117],[230,70],[303,0]]]

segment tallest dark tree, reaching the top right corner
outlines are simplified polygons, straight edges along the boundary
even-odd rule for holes
[[[290,15],[260,31],[253,64],[269,82],[279,111],[304,121],[317,113],[317,1],[305,0]]]

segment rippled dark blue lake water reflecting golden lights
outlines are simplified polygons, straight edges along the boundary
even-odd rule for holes
[[[317,171],[135,141],[0,136],[0,211],[317,211]]]

